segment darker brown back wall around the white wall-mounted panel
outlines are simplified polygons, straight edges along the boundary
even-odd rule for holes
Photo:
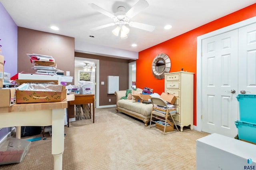
[[[75,52],[75,57],[100,60],[99,80],[105,83],[104,85],[99,84],[99,105],[115,105],[116,96],[108,94],[108,76],[119,76],[119,90],[128,89],[128,63],[132,61],[77,52]],[[109,102],[109,99],[111,99],[111,102]]]

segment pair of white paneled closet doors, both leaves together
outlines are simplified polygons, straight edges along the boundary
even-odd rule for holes
[[[202,131],[234,137],[236,96],[256,94],[256,23],[202,41]]]

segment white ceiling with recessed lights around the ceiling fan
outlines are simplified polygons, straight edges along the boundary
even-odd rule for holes
[[[56,33],[75,38],[76,42],[103,45],[139,52],[222,16],[254,4],[255,0],[147,0],[149,6],[130,21],[154,25],[154,31],[130,27],[127,39],[113,35],[110,26],[96,31],[90,28],[113,23],[92,9],[94,3],[114,14],[118,6],[126,11],[138,0],[0,0],[19,27]],[[3,23],[1,23],[3,24]],[[165,30],[170,24],[172,29]],[[50,26],[60,29],[54,31]],[[128,26],[129,27],[129,26]],[[90,35],[94,38],[89,37]],[[137,47],[131,45],[136,43]]]

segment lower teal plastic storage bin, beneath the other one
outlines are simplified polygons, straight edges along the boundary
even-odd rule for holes
[[[256,124],[245,121],[235,121],[238,128],[238,139],[256,144]]]

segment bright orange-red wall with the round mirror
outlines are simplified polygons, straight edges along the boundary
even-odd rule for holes
[[[152,88],[153,92],[164,92],[164,79],[154,78],[151,72],[151,64],[156,55],[165,53],[170,57],[170,72],[184,71],[194,72],[194,125],[196,125],[196,46],[197,37],[217,29],[232,25],[256,16],[256,4],[238,10],[232,14],[202,25],[168,41],[150,47],[139,52],[136,61],[136,86],[138,88]],[[172,31],[172,30],[170,30]]]

